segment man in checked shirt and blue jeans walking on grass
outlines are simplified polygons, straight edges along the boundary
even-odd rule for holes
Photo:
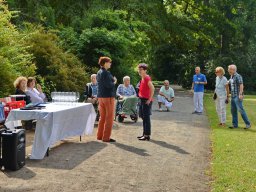
[[[244,98],[243,78],[236,71],[237,71],[237,67],[235,65],[228,66],[228,72],[230,74],[229,84],[231,88],[231,114],[232,114],[232,124],[233,124],[229,128],[232,129],[232,128],[238,127],[238,115],[237,115],[237,110],[238,110],[245,123],[244,129],[249,129],[251,127],[251,123],[243,108],[243,98]]]

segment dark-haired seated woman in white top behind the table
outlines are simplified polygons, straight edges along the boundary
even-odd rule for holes
[[[35,88],[36,79],[34,77],[29,77],[27,82],[27,91],[26,94],[30,96],[32,103],[43,103],[45,101],[45,94],[42,91],[42,88],[37,84],[37,89]]]

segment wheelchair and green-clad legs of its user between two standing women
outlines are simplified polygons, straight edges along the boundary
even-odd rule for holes
[[[115,120],[117,118],[117,121],[122,123],[127,116],[130,116],[131,120],[136,123],[139,118],[138,109],[137,97],[127,97],[123,100],[117,98]]]

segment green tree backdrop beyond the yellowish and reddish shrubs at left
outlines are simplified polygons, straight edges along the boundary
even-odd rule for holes
[[[235,63],[246,90],[255,89],[254,0],[10,0],[19,10],[12,20],[57,29],[57,46],[78,57],[89,73],[99,56],[113,59],[112,72],[122,79],[139,62],[150,65],[154,79],[169,79],[190,87],[194,67],[214,87],[214,68]],[[249,76],[247,76],[249,74]]]

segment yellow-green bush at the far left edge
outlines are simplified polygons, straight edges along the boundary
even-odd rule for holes
[[[16,29],[11,18],[16,12],[10,12],[4,1],[0,1],[0,97],[14,92],[13,82],[20,75],[34,75],[35,66],[28,46],[24,46],[26,35]]]

